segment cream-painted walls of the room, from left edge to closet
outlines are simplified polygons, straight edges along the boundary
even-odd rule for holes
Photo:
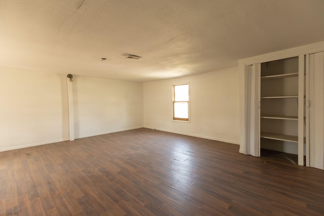
[[[172,85],[187,81],[190,123],[176,122]],[[238,144],[236,67],[145,83],[74,76],[72,90],[75,138],[144,125]],[[65,74],[0,68],[0,100],[0,151],[69,139]]]

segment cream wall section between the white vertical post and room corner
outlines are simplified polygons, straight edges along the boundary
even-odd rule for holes
[[[72,89],[75,138],[143,127],[143,83],[74,76]]]

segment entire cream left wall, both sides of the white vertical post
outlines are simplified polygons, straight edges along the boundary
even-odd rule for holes
[[[143,127],[143,84],[74,76],[74,136]],[[65,74],[0,68],[0,151],[69,139]]]

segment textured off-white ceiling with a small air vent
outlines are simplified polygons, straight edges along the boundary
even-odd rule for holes
[[[323,40],[323,0],[0,1],[0,67],[27,71],[151,81]]]

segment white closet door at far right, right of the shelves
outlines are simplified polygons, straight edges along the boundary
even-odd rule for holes
[[[308,58],[306,116],[309,125],[306,124],[306,133],[309,136],[306,139],[309,139],[309,166],[324,169],[324,52],[310,54]]]

